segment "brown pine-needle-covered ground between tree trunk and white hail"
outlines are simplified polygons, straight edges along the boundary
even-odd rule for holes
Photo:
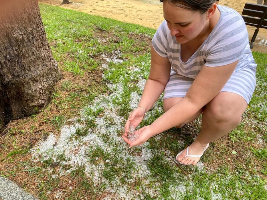
[[[55,45],[55,42],[50,43],[50,45]],[[71,59],[71,57],[66,55],[66,59]],[[59,65],[60,64],[62,63],[59,63]],[[60,126],[62,124],[72,124],[73,118],[78,116],[80,109],[87,105],[90,99],[94,99],[94,92],[102,93],[104,89],[102,70],[99,68],[90,72],[87,71],[82,77],[67,71],[61,71],[63,78],[56,83],[54,91],[56,95],[54,95],[49,105],[36,115],[11,121],[7,125],[5,131],[0,134],[1,173],[9,177],[9,179],[22,188],[27,188],[27,191],[35,195],[40,192],[38,191],[40,186],[38,186],[38,184],[45,184],[46,181],[51,181],[51,177],[49,177],[47,173],[43,173],[42,169],[46,168],[43,163],[31,162],[31,154],[28,153],[28,150],[31,149],[37,141],[45,140],[51,132],[55,135],[59,135]],[[91,97],[90,95],[93,96]],[[59,124],[57,117],[60,116],[62,116],[62,121]],[[10,155],[11,152],[13,155]],[[41,170],[36,173],[35,171],[30,173],[27,171],[28,166],[25,166],[25,163],[28,163],[28,165],[34,169],[38,169],[39,167]],[[57,165],[53,166],[57,168]],[[39,180],[40,177],[42,177],[42,180]],[[71,177],[63,176],[60,178],[59,185],[54,185],[54,188],[59,188],[64,185],[68,186],[68,182],[66,181],[70,179]],[[79,181],[76,181],[76,183],[77,182]],[[79,184],[75,186],[79,187]],[[63,192],[68,191],[69,187],[64,187],[62,190]],[[85,193],[86,191],[81,192]],[[50,194],[48,196],[54,199],[55,194]],[[90,199],[89,196],[88,199]]]

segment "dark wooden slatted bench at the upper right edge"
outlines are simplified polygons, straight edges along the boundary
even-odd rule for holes
[[[253,48],[253,42],[256,39],[256,36],[260,28],[267,29],[267,6],[246,3],[242,12],[242,17],[246,25],[256,27],[252,39],[250,41],[250,48]]]

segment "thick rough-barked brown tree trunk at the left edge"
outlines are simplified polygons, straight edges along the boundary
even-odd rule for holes
[[[37,0],[0,0],[0,131],[51,101],[62,78]]]

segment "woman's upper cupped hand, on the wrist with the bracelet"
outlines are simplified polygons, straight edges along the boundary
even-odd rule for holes
[[[144,119],[144,114],[145,111],[142,107],[137,107],[136,109],[134,109],[126,121],[126,124],[124,126],[124,133],[129,132],[130,125],[137,127]]]

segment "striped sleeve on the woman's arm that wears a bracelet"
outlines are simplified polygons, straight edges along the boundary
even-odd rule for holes
[[[161,57],[168,57],[167,55],[167,23],[164,20],[157,29],[153,39],[152,46]]]

